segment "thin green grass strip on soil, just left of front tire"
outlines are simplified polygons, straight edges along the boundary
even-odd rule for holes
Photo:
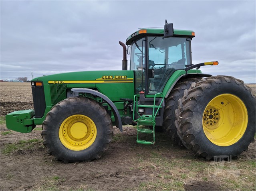
[[[29,148],[34,147],[34,143],[36,142],[42,142],[42,140],[38,139],[30,139],[30,140],[20,140],[18,143],[11,143],[11,144],[6,144],[4,148],[1,149],[2,154],[10,154],[13,152],[16,152],[18,150],[26,150]]]

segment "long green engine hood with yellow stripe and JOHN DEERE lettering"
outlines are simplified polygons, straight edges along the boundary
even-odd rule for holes
[[[120,98],[133,98],[134,96],[134,74],[129,70],[61,73],[38,77],[33,79],[33,82],[35,85],[36,82],[39,82],[39,85],[40,82],[43,84],[46,100],[52,100],[52,105],[65,99],[65,92],[72,88],[97,89],[113,102],[120,101]],[[50,97],[56,92],[59,94],[56,98]]]

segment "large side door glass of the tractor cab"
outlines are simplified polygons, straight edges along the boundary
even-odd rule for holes
[[[182,37],[148,37],[148,93],[163,91],[173,72],[190,65],[189,41]],[[154,73],[152,75],[151,73]]]

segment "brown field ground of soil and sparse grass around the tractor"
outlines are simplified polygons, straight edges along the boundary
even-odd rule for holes
[[[0,86],[1,116],[33,108],[29,83]],[[41,126],[36,127],[31,133],[22,134],[0,125],[1,191],[256,189],[255,142],[239,159],[223,166],[172,146],[164,133],[157,133],[156,144],[147,146],[136,143],[133,126],[124,126],[123,133],[114,127],[113,141],[100,159],[62,163],[47,153],[42,145]],[[15,148],[7,152],[12,146]]]

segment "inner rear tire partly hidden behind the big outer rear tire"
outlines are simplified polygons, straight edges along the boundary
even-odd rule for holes
[[[178,100],[183,97],[184,91],[189,89],[192,83],[196,83],[198,81],[200,81],[200,79],[190,78],[178,82],[165,100],[162,128],[169,138],[171,138],[173,144],[177,144],[179,146],[182,145],[182,142],[177,135],[177,128],[174,124],[176,120],[175,110],[179,107]]]

